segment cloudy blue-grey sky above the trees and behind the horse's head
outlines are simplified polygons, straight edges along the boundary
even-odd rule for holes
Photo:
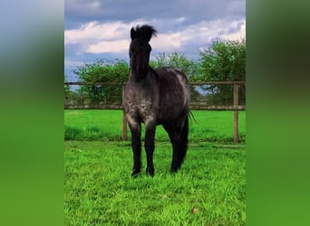
[[[178,52],[199,59],[214,40],[246,37],[246,0],[65,0],[64,74],[96,59],[129,61],[131,27],[150,24],[151,59]]]

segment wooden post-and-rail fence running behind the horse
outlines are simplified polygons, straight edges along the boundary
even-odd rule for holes
[[[234,142],[238,143],[238,111],[246,109],[245,81],[190,82],[190,109],[233,110]],[[122,109],[123,83],[64,82],[65,109]],[[123,111],[122,138],[127,139]]]

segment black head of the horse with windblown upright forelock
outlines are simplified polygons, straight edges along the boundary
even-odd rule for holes
[[[137,25],[131,28],[130,58],[131,70],[135,72],[137,80],[144,79],[149,72],[150,38],[156,35],[156,30],[150,25]]]

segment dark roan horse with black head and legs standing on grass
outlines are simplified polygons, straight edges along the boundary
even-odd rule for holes
[[[171,173],[176,173],[188,149],[189,80],[179,70],[150,65],[150,38],[157,31],[150,25],[131,28],[131,71],[123,92],[122,104],[131,129],[133,168],[131,176],[140,174],[141,123],[145,124],[144,148],[146,173],[154,175],[153,153],[157,125],[168,132],[173,153]]]

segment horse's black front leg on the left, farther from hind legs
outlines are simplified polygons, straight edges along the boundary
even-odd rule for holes
[[[141,130],[140,130],[140,123],[137,122],[130,122],[129,126],[131,128],[131,147],[133,153],[133,167],[131,176],[137,176],[140,174],[141,163]]]

